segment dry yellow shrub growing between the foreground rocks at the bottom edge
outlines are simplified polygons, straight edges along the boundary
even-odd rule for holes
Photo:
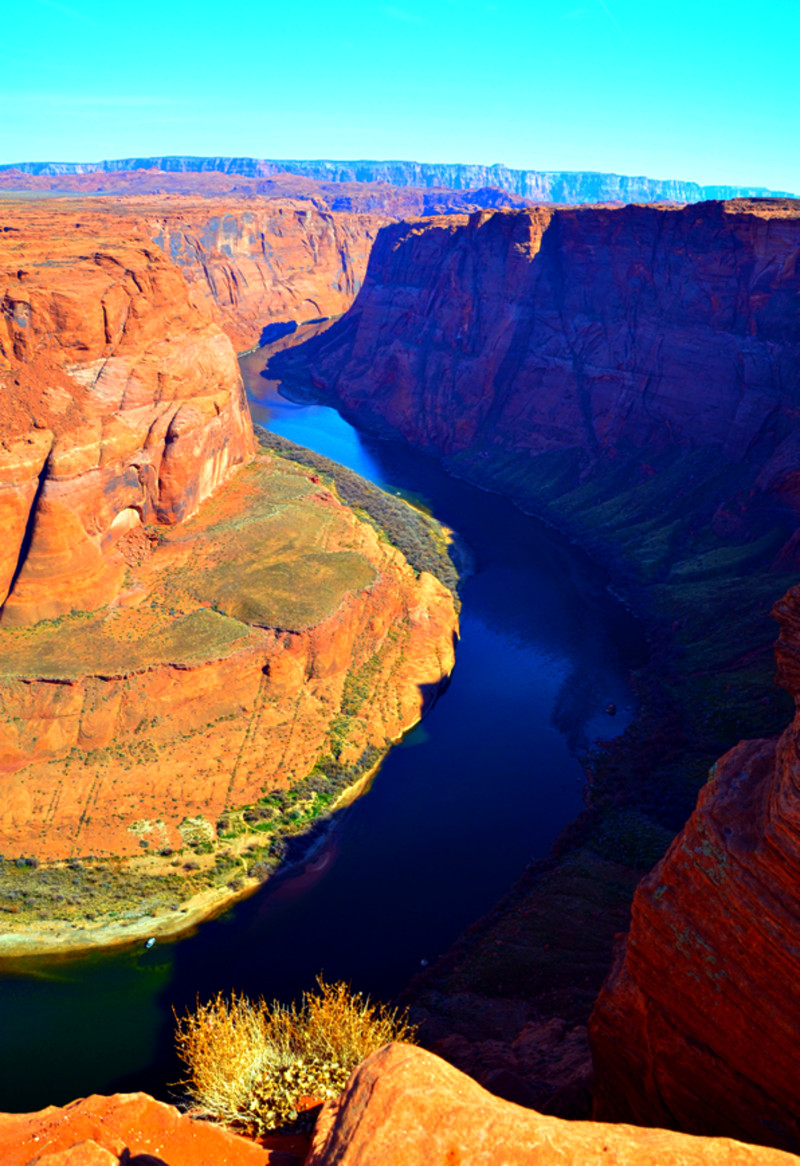
[[[317,979],[300,1006],[222,995],[177,1020],[182,1084],[202,1111],[262,1133],[293,1122],[303,1098],[337,1097],[365,1056],[393,1040],[413,1042],[405,1014]]]

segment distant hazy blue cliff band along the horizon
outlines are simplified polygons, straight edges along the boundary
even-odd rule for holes
[[[338,162],[269,160],[255,157],[127,157],[103,162],[14,162],[0,171],[19,170],[33,175],[72,175],[115,170],[159,169],[171,174],[236,174],[267,177],[276,173],[303,175],[323,182],[386,182],[394,187],[440,187],[450,190],[478,190],[494,187],[538,203],[598,202],[702,202],[706,198],[781,196],[790,191],[762,187],[701,187],[696,182],[631,177],[583,170],[513,170],[507,166],[475,166],[438,162]]]

